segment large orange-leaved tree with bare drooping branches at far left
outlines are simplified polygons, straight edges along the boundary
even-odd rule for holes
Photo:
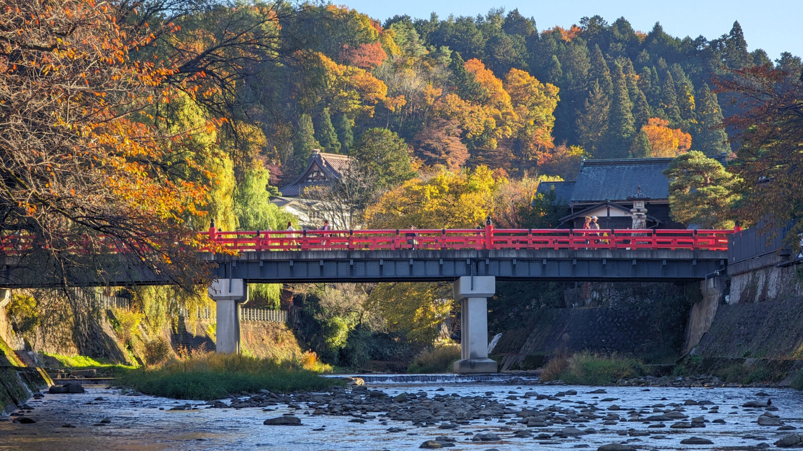
[[[30,240],[41,283],[102,277],[109,246],[187,290],[201,274],[184,217],[202,214],[207,189],[181,177],[206,171],[192,158],[198,130],[165,132],[153,116],[179,95],[165,83],[176,69],[132,62],[153,36],[129,13],[84,0],[0,11],[0,233]]]

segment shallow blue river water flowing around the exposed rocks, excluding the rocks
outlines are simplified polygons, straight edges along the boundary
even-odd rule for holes
[[[369,378],[370,380],[370,378]],[[385,381],[386,382],[386,381]],[[567,425],[553,425],[545,428],[527,428],[526,425],[506,424],[520,418],[507,415],[485,421],[471,421],[459,429],[442,430],[436,425],[414,426],[409,421],[385,421],[381,416],[366,423],[351,423],[351,416],[310,415],[304,403],[300,409],[288,408],[285,404],[275,406],[271,411],[263,408],[209,408],[202,401],[178,401],[155,396],[128,396],[120,389],[104,386],[88,386],[84,394],[45,395],[41,400],[30,400],[33,408],[25,416],[33,418],[35,424],[19,424],[0,421],[0,450],[69,450],[69,449],[287,449],[287,450],[380,450],[380,449],[418,449],[423,441],[438,436],[454,438],[455,450],[485,451],[532,450],[532,449],[597,449],[607,443],[628,443],[638,449],[761,449],[787,433],[799,430],[779,431],[777,426],[760,426],[756,420],[764,409],[743,408],[748,400],[772,399],[772,406],[778,408],[772,413],[781,416],[785,425],[803,428],[803,392],[780,388],[655,388],[605,387],[605,394],[591,394],[598,387],[541,385],[519,382],[501,384],[495,381],[454,382],[427,381],[424,383],[370,384],[369,388],[379,389],[390,396],[401,392],[426,392],[428,396],[437,394],[458,394],[460,396],[488,396],[489,393],[500,402],[509,403],[510,408],[546,408],[558,405],[560,408],[583,408],[596,403],[605,415],[611,404],[621,410],[617,413],[622,421],[616,425],[603,425],[602,420],[581,424],[569,424],[578,429],[594,428],[596,433],[573,438],[552,438],[549,440],[533,437],[516,438],[513,433],[529,429],[532,433],[555,433]],[[435,392],[438,388],[445,391]],[[560,400],[507,399],[508,396],[523,396],[524,392],[534,391],[554,394],[574,389],[577,395],[562,396]],[[765,392],[768,396],[756,396]],[[102,396],[104,400],[93,401]],[[605,398],[614,398],[613,401]],[[718,413],[711,413],[712,405],[683,405],[685,400],[710,400],[719,406]],[[194,410],[168,410],[177,404],[189,402],[198,405]],[[90,404],[87,404],[90,403]],[[585,404],[584,404],[585,403]],[[705,416],[709,422],[705,428],[648,429],[649,424],[642,421],[626,421],[628,412],[642,412],[653,415],[654,405],[664,404],[674,408],[680,404],[690,418]],[[160,410],[163,408],[164,410]],[[301,418],[302,426],[266,426],[267,418],[294,412]],[[108,418],[108,424],[100,421]],[[716,419],[724,424],[713,423]],[[75,428],[63,428],[69,423]],[[654,424],[654,422],[652,423]],[[401,432],[388,432],[391,427],[405,429]],[[313,430],[323,429],[323,430]],[[650,436],[633,437],[633,431],[649,431]],[[501,441],[476,442],[471,437],[480,431],[490,431],[501,437]],[[703,437],[714,442],[713,445],[681,445],[688,437]],[[767,445],[763,445],[767,444]]]

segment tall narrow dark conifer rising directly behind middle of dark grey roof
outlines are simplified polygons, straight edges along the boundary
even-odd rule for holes
[[[608,158],[624,158],[636,134],[633,103],[627,94],[627,82],[619,63],[613,63],[613,102],[610,106],[608,139],[603,153]]]

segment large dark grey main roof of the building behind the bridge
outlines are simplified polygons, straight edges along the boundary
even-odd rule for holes
[[[626,201],[637,186],[653,200],[669,198],[669,179],[663,170],[672,158],[585,160],[577,174],[573,202]]]

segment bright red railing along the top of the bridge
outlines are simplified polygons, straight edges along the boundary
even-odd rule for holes
[[[415,229],[202,233],[228,250],[728,250],[733,230]]]

